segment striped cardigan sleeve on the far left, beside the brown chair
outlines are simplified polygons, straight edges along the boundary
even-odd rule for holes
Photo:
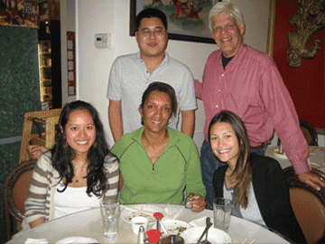
[[[49,155],[41,155],[33,169],[32,182],[27,199],[24,202],[24,215],[27,223],[39,218],[44,218],[45,221],[49,220],[49,205],[46,201],[50,194],[49,176],[53,176],[51,173],[51,159]]]

